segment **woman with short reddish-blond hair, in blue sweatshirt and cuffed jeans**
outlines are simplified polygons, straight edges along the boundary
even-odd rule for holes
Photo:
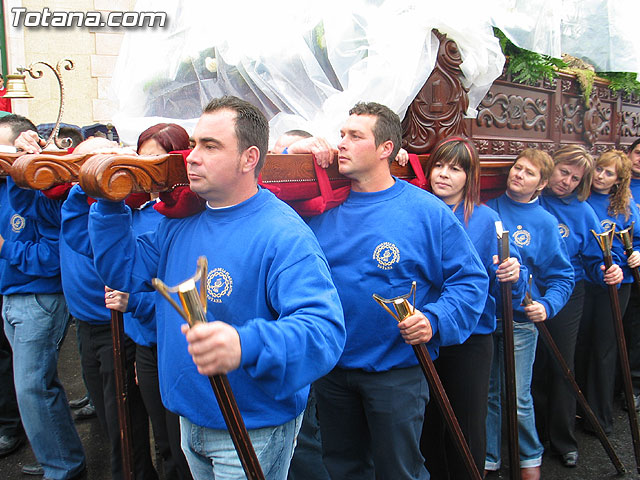
[[[531,375],[538,338],[538,331],[532,322],[553,318],[569,299],[574,286],[573,267],[558,231],[558,221],[540,206],[537,198],[546,187],[552,171],[553,160],[548,154],[532,148],[525,149],[509,170],[506,193],[487,202],[498,212],[505,228],[511,232],[518,245],[522,263],[533,276],[533,302],[528,306],[519,306],[513,312],[518,439],[523,480],[540,478],[544,451],[536,431],[531,398]],[[500,468],[502,355],[501,352],[496,353],[489,386],[485,462],[487,470]]]

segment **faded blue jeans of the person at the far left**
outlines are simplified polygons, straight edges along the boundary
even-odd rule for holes
[[[58,378],[58,354],[69,326],[67,304],[61,294],[6,295],[2,316],[33,453],[46,478],[71,478],[85,468],[85,457]]]

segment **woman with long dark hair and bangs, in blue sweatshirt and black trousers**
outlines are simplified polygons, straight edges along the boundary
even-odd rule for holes
[[[519,305],[526,289],[527,270],[520,271],[519,254],[497,265],[498,214],[480,204],[480,163],[473,143],[450,137],[431,153],[425,170],[431,191],[444,201],[464,226],[489,275],[489,294],[471,336],[461,345],[440,348],[435,366],[465,435],[479,471],[486,454],[486,415],[489,373],[493,358],[496,310],[501,310],[500,282],[511,282],[513,298]],[[502,315],[500,315],[502,317]],[[434,478],[466,478],[464,464],[445,432],[445,424],[435,402],[427,406],[421,450]]]

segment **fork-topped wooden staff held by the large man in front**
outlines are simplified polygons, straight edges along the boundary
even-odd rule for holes
[[[200,293],[196,288],[196,280],[200,279]],[[190,327],[196,323],[206,323],[207,318],[207,258],[198,258],[198,268],[190,279],[175,287],[167,287],[160,279],[152,280],[153,287],[164,296]],[[182,307],[169,295],[177,293]],[[233,445],[240,457],[240,463],[248,480],[264,480],[262,468],[251,444],[251,438],[244,425],[238,404],[231,391],[231,385],[224,374],[209,377],[211,388],[216,395],[222,416],[233,440]]]

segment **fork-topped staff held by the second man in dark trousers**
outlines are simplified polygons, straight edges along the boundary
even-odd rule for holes
[[[413,303],[416,302],[416,282],[411,284],[411,290],[406,295],[400,295],[399,297],[387,299],[382,298],[380,295],[373,294],[373,299],[380,304],[382,308],[384,308],[393,318],[395,318],[398,323],[402,322],[405,318],[411,316],[415,312],[415,308],[409,305],[407,299],[413,295]],[[396,312],[394,313],[387,304],[393,305]],[[419,345],[412,345],[413,351],[418,358],[418,362],[420,363],[420,367],[422,368],[422,372],[424,376],[427,378],[429,382],[429,388],[433,390],[436,401],[438,402],[438,406],[440,407],[440,411],[442,412],[449,432],[453,437],[454,443],[458,449],[458,452],[462,456],[462,460],[464,462],[465,467],[467,468],[467,472],[469,472],[469,476],[474,480],[481,480],[480,472],[478,472],[478,468],[476,467],[475,462],[473,461],[473,457],[471,456],[471,451],[469,450],[469,445],[462,434],[462,430],[460,429],[460,425],[458,424],[458,419],[453,413],[453,408],[451,408],[451,403],[449,402],[449,397],[447,397],[446,392],[444,391],[444,387],[442,386],[442,382],[440,381],[440,377],[438,376],[438,372],[433,365],[433,361],[431,360],[431,356],[427,350],[427,346],[424,343]]]

